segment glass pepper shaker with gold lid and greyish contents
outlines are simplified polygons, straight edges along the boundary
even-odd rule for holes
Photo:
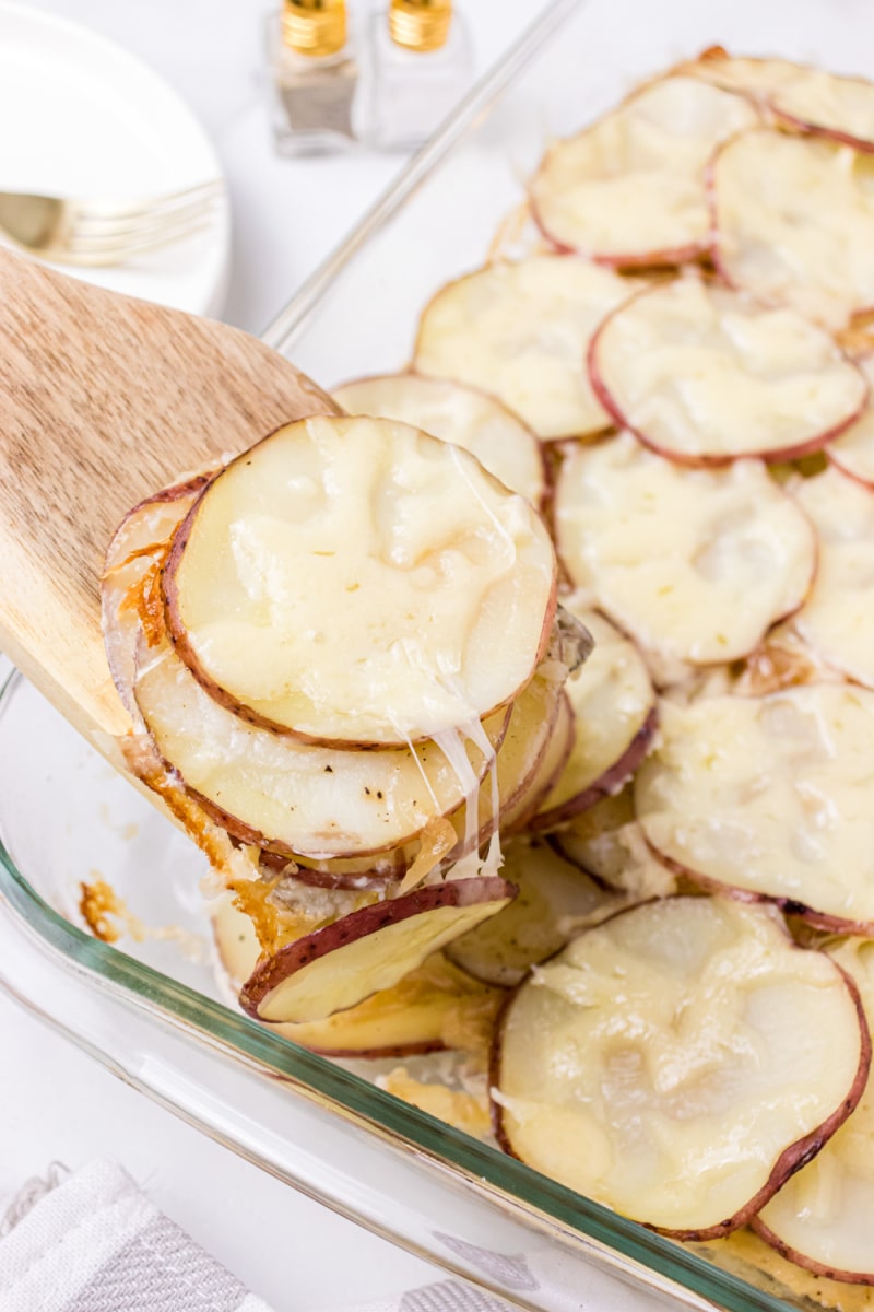
[[[274,140],[280,155],[354,144],[358,60],[345,0],[283,0],[267,20]]]

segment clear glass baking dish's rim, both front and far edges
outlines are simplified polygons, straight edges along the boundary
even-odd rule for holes
[[[552,0],[536,14],[535,22],[504,58],[480,79],[435,136],[400,169],[352,234],[328,256],[265,329],[262,340],[267,345],[280,352],[288,349],[338,274],[490,113],[516,76],[584,3]],[[0,682],[0,718],[22,678],[13,669]],[[296,1094],[329,1106],[371,1131],[381,1131],[401,1147],[415,1149],[430,1161],[476,1179],[495,1202],[503,1199],[516,1207],[522,1204],[546,1227],[592,1240],[731,1312],[791,1312],[791,1305],[782,1299],[93,938],[39,896],[1,840],[0,896],[64,970],[84,971],[92,979],[106,981],[128,1005],[190,1034],[199,1044],[218,1048],[232,1060],[284,1076],[292,1081]],[[77,1042],[72,1029],[56,1027],[73,1043]]]

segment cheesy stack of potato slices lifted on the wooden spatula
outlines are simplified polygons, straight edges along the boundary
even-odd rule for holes
[[[480,848],[588,639],[556,630],[541,518],[472,455],[389,420],[288,425],[132,510],[104,596],[128,760],[228,840],[259,908],[253,1015],[325,1019],[507,904]]]

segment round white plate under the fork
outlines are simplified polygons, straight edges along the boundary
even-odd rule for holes
[[[221,177],[212,143],[157,73],[86,28],[3,0],[0,123],[0,190],[127,198]],[[177,245],[115,268],[64,272],[218,316],[229,249],[224,197],[208,227]]]

